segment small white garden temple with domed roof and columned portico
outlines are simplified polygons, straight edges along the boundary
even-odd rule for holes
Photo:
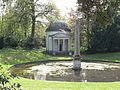
[[[70,52],[70,32],[63,21],[53,21],[46,29],[46,50],[52,54]]]

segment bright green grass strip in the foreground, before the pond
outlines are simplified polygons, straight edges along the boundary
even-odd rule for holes
[[[25,90],[120,90],[119,82],[79,83],[17,79]]]

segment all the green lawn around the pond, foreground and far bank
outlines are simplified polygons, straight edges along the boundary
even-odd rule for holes
[[[53,57],[43,54],[44,50],[15,50],[3,49],[0,50],[0,64],[4,68],[14,64],[40,61],[40,60],[56,60],[56,59],[71,59],[72,57]],[[120,62],[120,52],[104,53],[104,54],[83,54],[83,60],[106,60]],[[78,82],[54,82],[40,81],[30,79],[15,79],[22,85],[23,90],[120,90],[120,82],[110,83],[78,83]]]

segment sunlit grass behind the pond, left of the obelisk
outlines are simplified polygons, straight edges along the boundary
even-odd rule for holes
[[[14,65],[18,63],[26,63],[42,60],[70,59],[71,57],[53,57],[43,54],[44,50],[0,50],[0,63],[3,65]]]

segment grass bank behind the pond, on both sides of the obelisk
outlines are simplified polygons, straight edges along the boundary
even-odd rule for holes
[[[72,57],[59,57],[43,54],[45,50],[22,50],[3,49],[0,50],[0,63],[3,65],[14,65],[41,60],[72,59]],[[120,52],[103,54],[83,54],[83,60],[106,60],[120,62]]]

